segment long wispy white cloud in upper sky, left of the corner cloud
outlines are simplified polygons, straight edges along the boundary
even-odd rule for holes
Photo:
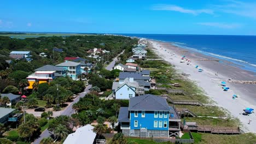
[[[178,11],[180,13],[186,13],[186,14],[193,14],[193,15],[198,15],[201,13],[205,14],[211,14],[213,15],[213,10],[211,9],[185,9],[182,7],[179,7],[177,5],[168,5],[168,4],[156,4],[153,6],[153,10],[167,10],[167,11]]]

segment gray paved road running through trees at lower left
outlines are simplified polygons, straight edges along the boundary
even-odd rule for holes
[[[74,99],[74,101],[69,104],[66,109],[62,110],[62,111],[57,111],[57,112],[54,112],[54,116],[53,117],[57,117],[57,116],[60,116],[60,115],[66,115],[66,116],[71,116],[73,113],[75,113],[75,110],[72,109],[72,106],[73,104],[77,103],[79,101],[79,98],[83,98],[85,96],[85,94],[87,94],[88,92],[90,92],[90,89],[91,88],[91,85],[87,86],[85,89],[84,89],[84,92],[80,93],[78,95],[77,98]],[[34,144],[39,144],[40,141],[45,138],[45,137],[49,137],[51,135],[51,132],[46,129],[43,131],[42,134],[40,134],[40,136],[38,137],[38,139],[36,139],[33,143]]]

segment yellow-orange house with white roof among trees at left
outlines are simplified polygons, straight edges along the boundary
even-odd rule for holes
[[[56,71],[36,71],[27,77],[27,81],[30,84],[27,89],[32,89],[33,84],[38,81],[40,83],[50,83],[55,78]]]

